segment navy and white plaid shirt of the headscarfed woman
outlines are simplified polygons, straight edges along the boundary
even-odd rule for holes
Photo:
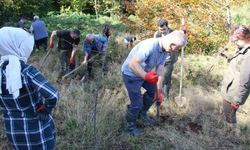
[[[2,94],[0,106],[5,120],[6,134],[15,149],[47,150],[53,149],[56,134],[53,119],[39,120],[37,107],[44,103],[46,108],[55,107],[58,92],[32,65],[21,61],[22,88],[17,99],[6,90],[7,63],[0,68],[2,71]]]

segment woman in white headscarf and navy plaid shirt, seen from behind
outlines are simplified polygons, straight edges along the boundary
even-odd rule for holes
[[[25,30],[0,29],[0,106],[14,149],[54,149],[56,134],[50,113],[58,92],[27,64],[33,46],[34,37]]]

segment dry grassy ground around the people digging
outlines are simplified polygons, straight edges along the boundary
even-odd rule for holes
[[[72,19],[74,17],[76,18]],[[83,31],[82,36],[88,32],[100,31],[102,24],[107,21],[112,24],[113,35],[108,55],[110,67],[103,78],[100,73],[96,73],[92,81],[82,83],[79,80],[68,79],[59,84],[56,82],[59,70],[56,50],[48,57],[44,67],[39,65],[44,52],[36,52],[30,59],[30,62],[60,90],[61,98],[53,112],[57,129],[56,149],[250,150],[248,136],[250,101],[247,101],[237,114],[241,136],[235,137],[232,133],[226,132],[219,94],[226,62],[216,56],[185,56],[182,107],[178,105],[180,102],[176,98],[180,76],[179,59],[174,70],[171,98],[165,101],[161,108],[160,125],[145,127],[140,123],[145,135],[140,138],[129,136],[125,132],[124,120],[129,99],[120,77],[122,61],[129,53],[123,45],[126,27],[107,18],[100,20],[79,14],[52,15],[46,19],[50,22],[50,30],[52,27],[58,29],[78,27]],[[81,59],[82,53],[79,51],[78,64]],[[79,73],[82,75],[85,71],[86,68],[83,67]],[[96,69],[96,72],[100,71]],[[97,105],[95,105],[96,99]],[[155,116],[155,113],[156,109],[153,107],[150,115]],[[4,135],[2,120],[0,124],[0,149],[10,149]],[[97,128],[94,128],[95,125]]]

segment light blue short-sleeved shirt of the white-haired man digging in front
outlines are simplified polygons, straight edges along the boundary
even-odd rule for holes
[[[160,39],[151,38],[141,41],[129,53],[127,59],[122,65],[122,73],[137,77],[137,75],[129,68],[128,64],[134,56],[138,56],[141,60],[141,67],[144,71],[149,72],[156,66],[163,65],[167,52],[160,45]]]

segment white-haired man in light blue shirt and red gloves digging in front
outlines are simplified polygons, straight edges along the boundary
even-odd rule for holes
[[[158,39],[147,39],[138,43],[123,63],[122,77],[131,102],[126,114],[127,128],[131,135],[143,134],[136,126],[139,115],[146,124],[156,124],[147,115],[147,111],[154,100],[162,102],[164,99],[162,84],[167,52],[177,51],[185,44],[186,36],[183,31],[174,31]],[[155,68],[156,72],[153,71]],[[141,87],[146,90],[143,95]]]

